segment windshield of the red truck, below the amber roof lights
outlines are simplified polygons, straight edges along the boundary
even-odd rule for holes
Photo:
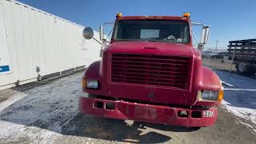
[[[188,22],[178,20],[120,20],[114,30],[115,41],[190,42]]]

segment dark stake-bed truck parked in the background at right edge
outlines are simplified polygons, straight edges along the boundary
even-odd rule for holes
[[[256,39],[230,41],[228,57],[233,59],[239,74],[253,75],[256,73]]]

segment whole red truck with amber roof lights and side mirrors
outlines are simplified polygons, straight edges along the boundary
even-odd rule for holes
[[[192,25],[202,26],[198,49]],[[106,43],[100,26],[100,39]],[[223,89],[218,75],[202,66],[200,50],[210,27],[182,16],[122,16],[118,13],[102,60],[82,78],[79,109],[102,118],[186,127],[211,126]],[[84,38],[93,38],[90,27]]]

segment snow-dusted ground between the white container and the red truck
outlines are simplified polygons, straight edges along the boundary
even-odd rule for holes
[[[78,73],[31,90],[16,90],[1,102],[2,142],[54,142],[61,135],[62,126],[78,114],[81,78]]]

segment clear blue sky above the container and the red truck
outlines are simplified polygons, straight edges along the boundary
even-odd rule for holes
[[[113,22],[115,14],[182,15],[191,12],[194,22],[210,26],[207,47],[226,48],[229,40],[256,38],[255,0],[18,0],[40,10],[98,30],[103,22]],[[198,34],[198,28],[194,28]]]

